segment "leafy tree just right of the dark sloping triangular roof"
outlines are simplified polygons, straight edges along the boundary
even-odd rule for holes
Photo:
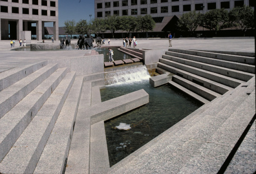
[[[185,32],[189,32],[190,36],[193,36],[197,27],[200,24],[200,13],[196,13],[196,11],[190,11],[188,13],[184,13],[178,21],[178,27]]]

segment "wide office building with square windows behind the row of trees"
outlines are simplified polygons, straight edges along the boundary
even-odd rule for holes
[[[150,14],[156,22],[154,32],[163,32],[172,29],[176,20],[174,16],[179,18],[183,13],[194,10],[206,13],[243,5],[253,7],[255,0],[95,0],[94,3],[95,18]]]

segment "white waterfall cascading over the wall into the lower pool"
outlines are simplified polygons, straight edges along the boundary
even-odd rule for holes
[[[105,73],[106,85],[133,83],[149,79],[150,73],[148,73],[145,65],[127,67]]]

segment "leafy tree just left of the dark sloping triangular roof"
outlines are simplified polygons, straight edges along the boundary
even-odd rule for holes
[[[147,37],[147,31],[153,31],[153,28],[156,26],[156,22],[153,20],[151,15],[147,14],[145,16],[138,16],[136,25],[137,31],[146,33]]]

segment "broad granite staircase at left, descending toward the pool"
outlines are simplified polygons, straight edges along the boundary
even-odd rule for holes
[[[1,73],[1,173],[65,169],[83,81],[48,61]]]

